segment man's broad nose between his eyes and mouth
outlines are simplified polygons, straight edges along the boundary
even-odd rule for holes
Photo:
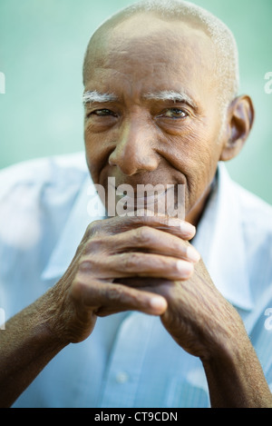
[[[110,165],[119,167],[128,176],[157,169],[160,157],[155,150],[156,138],[151,124],[127,120],[121,124],[117,138],[109,157]]]

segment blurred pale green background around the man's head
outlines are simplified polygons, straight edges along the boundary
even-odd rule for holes
[[[130,0],[0,0],[0,168],[83,150],[82,64],[92,31]],[[231,176],[272,203],[271,0],[196,0],[232,29],[240,52],[240,93],[256,122]]]

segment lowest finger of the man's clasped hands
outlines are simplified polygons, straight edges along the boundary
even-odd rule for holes
[[[92,309],[97,315],[124,311],[161,315],[167,309],[167,302],[162,296],[120,283],[85,282],[78,277],[73,282],[72,294],[81,306]]]

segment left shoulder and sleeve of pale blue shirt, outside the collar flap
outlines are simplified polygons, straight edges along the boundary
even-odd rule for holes
[[[47,157],[0,172],[0,309],[5,320],[43,294],[44,265],[62,233],[86,170]]]

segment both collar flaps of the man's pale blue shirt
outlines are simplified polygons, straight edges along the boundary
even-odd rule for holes
[[[73,260],[88,224],[104,217],[102,202],[94,194],[93,187],[88,176],[44,269],[43,280],[57,279],[63,275]],[[199,223],[193,245],[202,255],[219,292],[229,302],[250,310],[253,301],[249,288],[242,217],[235,189],[225,166],[219,163],[217,185]],[[92,209],[99,214],[93,216]]]

